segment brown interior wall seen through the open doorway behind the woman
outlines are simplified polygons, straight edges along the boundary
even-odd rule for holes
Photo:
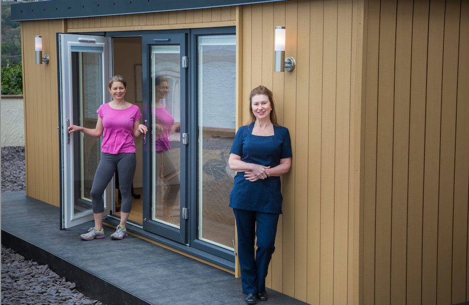
[[[137,101],[136,91],[139,90],[138,96],[141,97],[141,37],[132,38],[113,38],[113,73],[119,74],[127,81],[126,101],[137,105],[142,110],[142,101]],[[140,69],[138,69],[138,65]],[[137,75],[140,73],[140,75]],[[137,81],[139,78],[139,81]],[[138,87],[138,88],[137,88]],[[112,101],[109,95],[109,101]],[[140,119],[143,124],[142,119]],[[134,188],[143,186],[143,138],[135,140],[135,157],[137,166],[134,174]]]

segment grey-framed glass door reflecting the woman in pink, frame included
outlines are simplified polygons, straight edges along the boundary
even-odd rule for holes
[[[187,240],[187,33],[142,35],[143,229],[178,243]],[[147,198],[148,200],[145,200]]]

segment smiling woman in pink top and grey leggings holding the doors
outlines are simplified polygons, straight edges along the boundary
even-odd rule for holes
[[[89,229],[88,233],[80,235],[83,240],[104,238],[103,193],[116,169],[119,170],[119,185],[122,194],[121,222],[111,238],[123,239],[127,236],[126,222],[132,207],[131,186],[136,165],[134,138],[138,139],[148,131],[145,125],[139,123],[141,113],[138,106],[125,100],[126,80],[120,75],[114,76],[109,80],[108,90],[113,100],[102,104],[96,111],[99,115],[96,128],[90,129],[76,125],[68,127],[68,133],[81,131],[94,138],[100,138],[103,135],[101,159],[91,188],[94,227]]]

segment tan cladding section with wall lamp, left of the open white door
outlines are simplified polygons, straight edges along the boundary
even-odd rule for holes
[[[21,22],[26,195],[60,205],[59,97],[56,33],[63,20]],[[42,36],[48,64],[36,64],[34,36]]]

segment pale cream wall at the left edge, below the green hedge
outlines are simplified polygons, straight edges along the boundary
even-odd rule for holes
[[[1,147],[24,146],[22,95],[1,96]]]

